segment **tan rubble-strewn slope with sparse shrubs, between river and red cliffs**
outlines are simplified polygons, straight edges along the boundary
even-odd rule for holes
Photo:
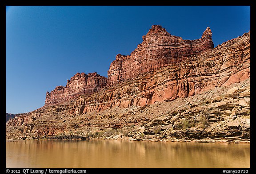
[[[6,139],[127,139],[250,142],[250,79],[145,107],[70,115],[44,108],[29,124],[6,125]],[[16,123],[16,122],[13,122]]]

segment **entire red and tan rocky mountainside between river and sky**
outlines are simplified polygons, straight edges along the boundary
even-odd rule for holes
[[[119,129],[124,139],[248,141],[250,31],[216,48],[211,35],[207,28],[201,39],[188,41],[153,26],[130,56],[117,55],[108,80],[77,73],[66,87],[47,93],[44,107],[9,120],[6,136],[92,137],[104,132],[107,138],[108,131]]]

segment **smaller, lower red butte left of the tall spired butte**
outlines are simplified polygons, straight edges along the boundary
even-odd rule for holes
[[[56,104],[71,100],[80,95],[88,95],[99,91],[107,85],[107,78],[97,73],[76,73],[67,85],[57,86],[51,93],[46,93],[45,104]]]

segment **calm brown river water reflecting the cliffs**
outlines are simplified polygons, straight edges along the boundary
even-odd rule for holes
[[[250,144],[6,141],[6,168],[249,168]]]

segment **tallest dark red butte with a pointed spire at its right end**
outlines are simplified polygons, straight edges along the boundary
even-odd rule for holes
[[[169,34],[160,25],[153,25],[142,38],[143,42],[130,55],[116,56],[108,70],[108,85],[131,80],[143,73],[152,73],[164,66],[179,64],[213,48],[212,31],[209,27],[202,38],[184,40]]]

